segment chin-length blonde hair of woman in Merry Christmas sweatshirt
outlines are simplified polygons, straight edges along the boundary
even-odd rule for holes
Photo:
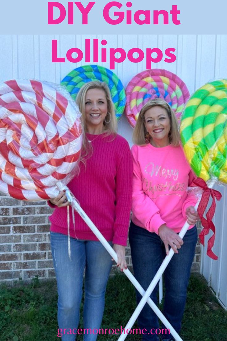
[[[161,98],[157,98],[147,102],[140,110],[132,136],[133,143],[139,146],[145,145],[145,134],[147,133],[147,130],[145,127],[144,115],[147,110],[154,106],[160,106],[166,109],[167,115],[170,120],[169,142],[172,146],[178,146],[180,134],[178,131],[178,122],[176,115],[174,114],[173,109],[168,105],[168,103]]]

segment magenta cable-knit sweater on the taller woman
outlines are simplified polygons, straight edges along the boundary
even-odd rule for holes
[[[88,217],[108,241],[126,246],[132,196],[132,157],[128,142],[120,135],[86,134],[93,153],[81,163],[80,173],[68,184]],[[51,207],[53,207],[50,204]],[[56,207],[50,231],[67,235],[67,209]],[[97,240],[75,212],[75,231],[70,207],[70,236]]]

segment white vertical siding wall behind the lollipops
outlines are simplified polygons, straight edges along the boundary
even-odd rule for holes
[[[210,80],[227,78],[227,35],[0,35],[0,83],[14,78],[36,78],[60,83],[72,69],[85,64],[52,63],[51,40],[58,40],[58,57],[66,57],[66,51],[72,47],[84,51],[85,39],[107,40],[107,49],[123,47],[128,51],[132,47],[159,47],[163,52],[168,47],[176,47],[174,63],[153,63],[152,68],[167,69],[176,73],[186,83],[192,94]],[[101,48],[100,44],[100,48]],[[107,57],[108,60],[108,57]],[[92,60],[91,60],[92,63]],[[98,63],[109,68],[109,63]],[[146,69],[146,61],[116,63],[114,72],[126,87],[130,79]],[[119,133],[132,144],[132,128],[123,116],[119,123]],[[227,194],[224,187],[221,203],[217,203],[215,225],[217,229],[214,251],[218,261],[211,261],[205,253],[202,257],[201,272],[216,292],[223,306],[227,307]],[[207,240],[207,239],[206,239]]]

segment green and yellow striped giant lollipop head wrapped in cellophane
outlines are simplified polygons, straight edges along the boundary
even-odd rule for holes
[[[195,174],[227,183],[227,79],[215,80],[189,99],[180,125],[185,156]]]

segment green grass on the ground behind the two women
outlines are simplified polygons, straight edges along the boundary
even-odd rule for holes
[[[57,294],[54,280],[32,284],[0,286],[0,341],[56,341]],[[122,274],[111,277],[106,294],[102,328],[125,326],[136,307],[134,287]],[[82,327],[82,320],[80,323]],[[134,326],[134,328],[137,325]],[[192,275],[188,290],[181,337],[184,341],[226,341],[227,313],[201,276]],[[99,336],[98,340],[117,340],[117,336]],[[82,340],[82,336],[78,337]],[[140,340],[128,336],[128,341]]]

